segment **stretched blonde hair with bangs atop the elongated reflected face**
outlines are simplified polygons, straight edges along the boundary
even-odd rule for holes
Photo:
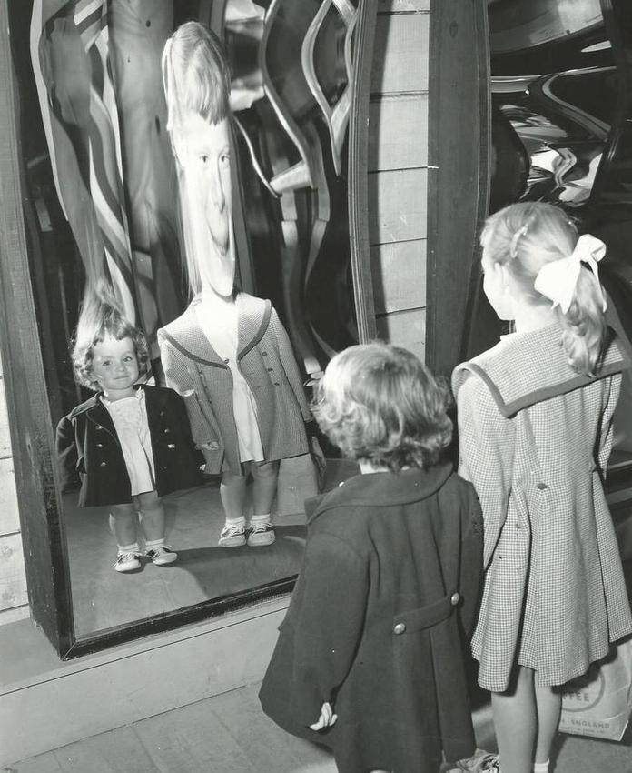
[[[222,44],[208,27],[186,22],[167,40],[163,85],[171,131],[187,113],[212,124],[228,115],[231,76]]]

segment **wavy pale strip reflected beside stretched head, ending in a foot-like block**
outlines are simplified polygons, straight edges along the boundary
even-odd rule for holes
[[[265,93],[270,100],[270,104],[272,105],[279,122],[290,137],[293,145],[296,147],[299,156],[301,156],[301,161],[272,177],[272,180],[270,181],[272,189],[279,194],[303,186],[313,187],[310,146],[274,88],[267,64],[266,54],[270,42],[270,33],[274,19],[279,12],[280,4],[281,0],[272,0],[272,3],[269,5],[266,12],[263,22],[262,42],[259,48],[259,66],[262,71]]]

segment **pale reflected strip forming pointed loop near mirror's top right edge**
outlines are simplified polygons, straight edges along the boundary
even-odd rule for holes
[[[337,104],[333,108],[322,91],[318,75],[316,74],[316,65],[314,63],[316,39],[331,5],[336,7],[347,27],[344,38],[344,62],[347,72],[347,85]],[[353,71],[351,40],[357,19],[358,10],[351,5],[349,0],[322,0],[321,7],[314,16],[301,46],[301,64],[303,73],[305,74],[307,84],[310,86],[311,93],[314,95],[314,99],[321,108],[322,115],[324,116],[331,140],[333,166],[336,170],[336,175],[338,176],[341,175],[342,171],[341,150],[344,143],[347,124],[349,122],[349,111],[351,109],[351,80]]]

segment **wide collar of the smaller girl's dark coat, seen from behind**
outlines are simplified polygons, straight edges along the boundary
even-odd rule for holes
[[[305,502],[307,522],[333,507],[390,507],[406,505],[430,497],[448,480],[452,465],[444,462],[421,470],[417,467],[399,473],[373,472],[350,477],[339,487]]]

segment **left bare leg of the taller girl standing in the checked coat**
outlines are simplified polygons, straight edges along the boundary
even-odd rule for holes
[[[491,694],[502,773],[531,773],[536,743],[537,712],[533,670],[518,666],[516,686]]]

